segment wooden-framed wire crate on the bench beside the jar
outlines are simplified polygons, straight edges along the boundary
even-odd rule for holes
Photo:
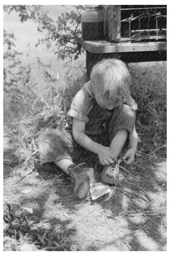
[[[166,40],[166,5],[108,5],[105,8],[108,40]]]

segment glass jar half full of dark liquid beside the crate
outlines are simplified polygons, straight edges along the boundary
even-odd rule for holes
[[[103,39],[103,11],[99,5],[85,5],[81,14],[83,40]]]

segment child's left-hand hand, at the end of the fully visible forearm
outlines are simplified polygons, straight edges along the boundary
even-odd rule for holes
[[[100,145],[98,147],[98,158],[102,165],[112,165],[117,161],[114,154],[112,153],[111,149]]]

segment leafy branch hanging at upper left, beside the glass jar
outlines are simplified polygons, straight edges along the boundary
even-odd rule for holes
[[[20,21],[26,22],[31,19],[37,24],[38,32],[47,31],[47,36],[38,39],[36,47],[45,43],[47,48],[55,42],[58,58],[70,57],[77,59],[83,48],[75,41],[75,37],[81,36],[81,12],[83,5],[74,6],[74,10],[66,11],[54,21],[49,17],[48,11],[44,11],[41,5],[4,5],[4,11],[10,14],[12,11],[18,13]]]

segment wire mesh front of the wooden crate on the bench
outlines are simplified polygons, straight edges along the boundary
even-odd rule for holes
[[[107,8],[110,9],[110,6]],[[121,21],[113,19],[112,22],[120,23],[120,41],[150,41],[153,39],[158,41],[166,39],[166,18],[165,5],[121,5]],[[112,38],[108,39],[112,40]]]

